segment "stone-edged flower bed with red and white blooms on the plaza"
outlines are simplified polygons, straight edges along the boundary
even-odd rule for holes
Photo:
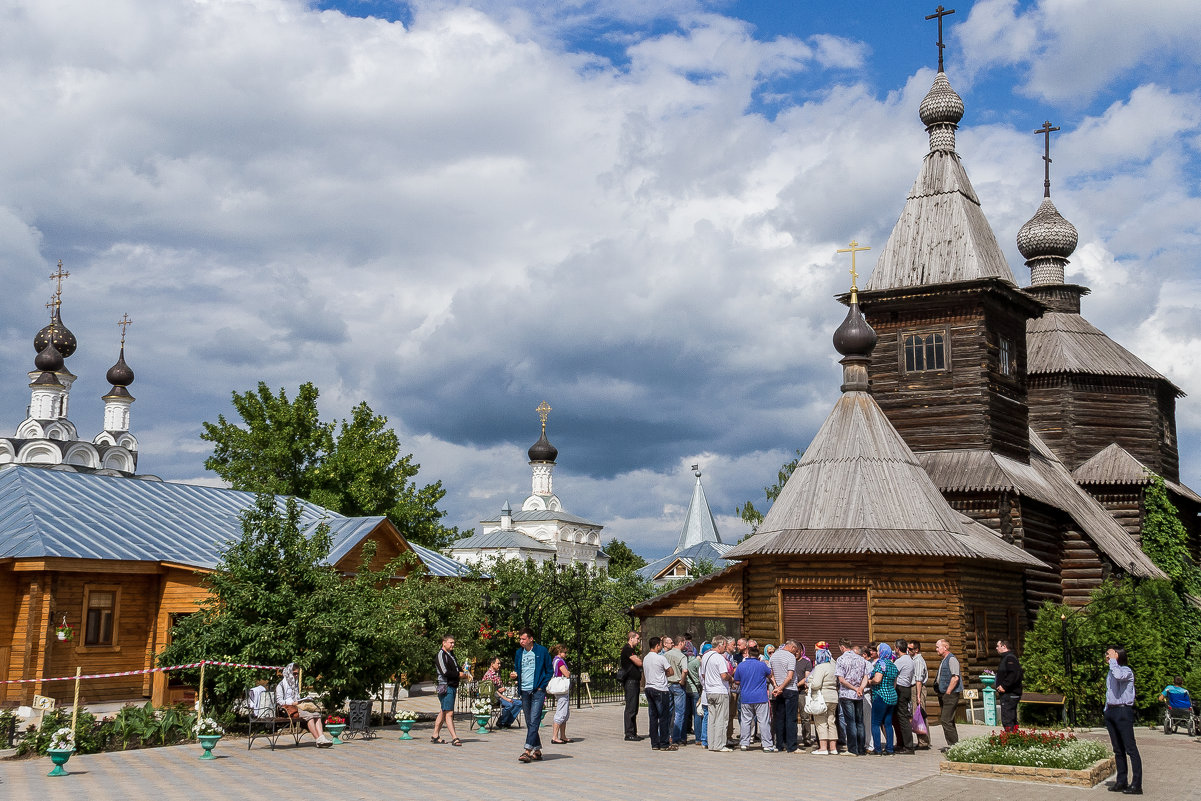
[[[1074,734],[1003,731],[952,746],[942,772],[1093,787],[1113,772],[1113,758]]]

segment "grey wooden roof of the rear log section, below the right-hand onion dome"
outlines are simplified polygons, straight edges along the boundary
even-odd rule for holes
[[[1154,367],[1076,313],[1047,312],[1027,321],[1026,348],[1027,371],[1032,376],[1071,372],[1151,378],[1165,382],[1177,396],[1184,395]]]

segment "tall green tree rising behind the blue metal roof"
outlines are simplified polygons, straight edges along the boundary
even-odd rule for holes
[[[351,419],[323,423],[317,396],[310,382],[295,400],[263,382],[233,393],[243,425],[223,414],[204,424],[201,438],[213,443],[204,467],[237,490],[294,495],[348,516],[387,515],[406,539],[430,548],[458,538],[456,528],[442,525],[442,483],[413,483],[420,465],[401,455],[388,419],[362,402]]]

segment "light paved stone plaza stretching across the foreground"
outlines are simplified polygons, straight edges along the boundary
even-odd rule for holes
[[[458,723],[458,722],[456,722]],[[645,713],[641,730],[645,733]],[[377,740],[353,741],[317,749],[271,752],[263,741],[252,751],[245,740],[222,740],[220,759],[198,759],[198,745],[124,753],[72,757],[71,776],[49,778],[49,759],[0,761],[0,799],[50,801],[139,801],[193,799],[488,799],[542,801],[561,799],[747,797],[806,801],[873,799],[900,801],[1066,801],[1112,799],[1099,785],[1091,790],[1018,782],[966,779],[938,775],[937,751],[915,757],[814,757],[766,754],[761,751],[709,753],[688,746],[675,753],[652,752],[649,741],[621,739],[621,709],[573,710],[568,734],[576,742],[550,745],[544,728],[545,760],[516,761],[522,734],[466,734],[464,746],[434,745],[432,724],[413,729],[402,742],[387,729]],[[961,727],[963,736],[984,727]],[[1098,733],[1091,736],[1104,736]],[[281,741],[282,742],[282,741]],[[1201,799],[1201,743],[1183,736],[1141,730],[1139,743],[1147,767],[1146,797]],[[934,733],[934,745],[940,735]],[[724,790],[709,793],[721,776]],[[1124,796],[1119,796],[1124,797]]]

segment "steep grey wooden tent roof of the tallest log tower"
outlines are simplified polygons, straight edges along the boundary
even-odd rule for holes
[[[976,279],[1017,283],[958,155],[936,150],[922,161],[901,219],[864,289]]]

